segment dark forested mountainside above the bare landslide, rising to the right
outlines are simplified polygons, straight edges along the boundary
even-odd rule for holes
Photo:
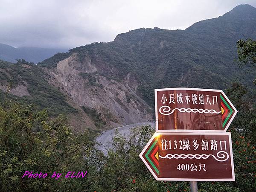
[[[241,79],[241,69],[233,62],[236,42],[244,37],[256,38],[256,8],[249,5],[237,6],[223,16],[200,21],[186,30],[132,30],[117,35],[112,42],[77,47],[41,64],[54,68],[75,54],[78,66],[90,64],[99,76],[121,82],[128,75],[133,77],[136,93],[153,106],[155,88],[224,89],[234,80],[250,84],[250,74]],[[64,84],[69,86],[73,90],[73,85]]]

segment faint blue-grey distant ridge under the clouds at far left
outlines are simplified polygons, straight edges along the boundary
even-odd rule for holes
[[[67,49],[50,49],[36,47],[15,48],[10,45],[0,44],[0,59],[3,61],[16,62],[16,59],[38,63],[58,52],[67,52]]]

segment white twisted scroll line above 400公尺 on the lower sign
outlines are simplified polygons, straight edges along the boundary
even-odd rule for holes
[[[162,157],[161,155],[159,155],[160,158],[162,159],[208,159],[210,156],[212,156],[215,160],[222,162],[222,161],[226,161],[229,158],[229,154],[226,151],[219,151],[217,153],[217,157],[215,157],[213,154],[166,154],[165,157]]]

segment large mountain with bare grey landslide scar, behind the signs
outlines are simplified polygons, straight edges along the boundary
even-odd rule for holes
[[[67,103],[63,112],[72,116],[71,121],[77,127],[82,129],[86,119],[90,119],[89,127],[101,130],[152,120],[155,88],[225,89],[232,81],[241,81],[255,91],[250,86],[255,73],[243,77],[240,73],[243,69],[234,62],[236,42],[244,37],[256,38],[256,8],[249,5],[237,6],[186,30],[135,29],[117,35],[108,43],[93,43],[55,54],[29,68],[31,73],[41,74],[37,86],[32,87],[33,81],[27,83],[29,74],[20,73],[26,71],[28,64],[3,64],[0,70],[8,71],[6,76],[12,77],[12,81],[17,77],[23,79],[30,96],[16,94],[19,98],[33,102],[35,96],[41,98],[41,94],[46,94],[42,102],[50,101],[54,108]],[[11,66],[17,74],[9,73],[10,69],[3,68],[6,66]],[[3,79],[4,91],[7,82]],[[44,84],[40,85],[41,81]],[[20,82],[17,81],[16,88],[12,88],[17,90],[11,93],[24,90],[20,87],[18,91]],[[49,90],[44,90],[46,82]],[[51,96],[53,90],[61,96]],[[79,115],[74,115],[69,107]]]

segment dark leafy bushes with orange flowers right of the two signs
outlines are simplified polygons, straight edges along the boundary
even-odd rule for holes
[[[238,113],[231,124],[236,182],[240,191],[256,190],[256,96],[239,83],[226,90]]]

